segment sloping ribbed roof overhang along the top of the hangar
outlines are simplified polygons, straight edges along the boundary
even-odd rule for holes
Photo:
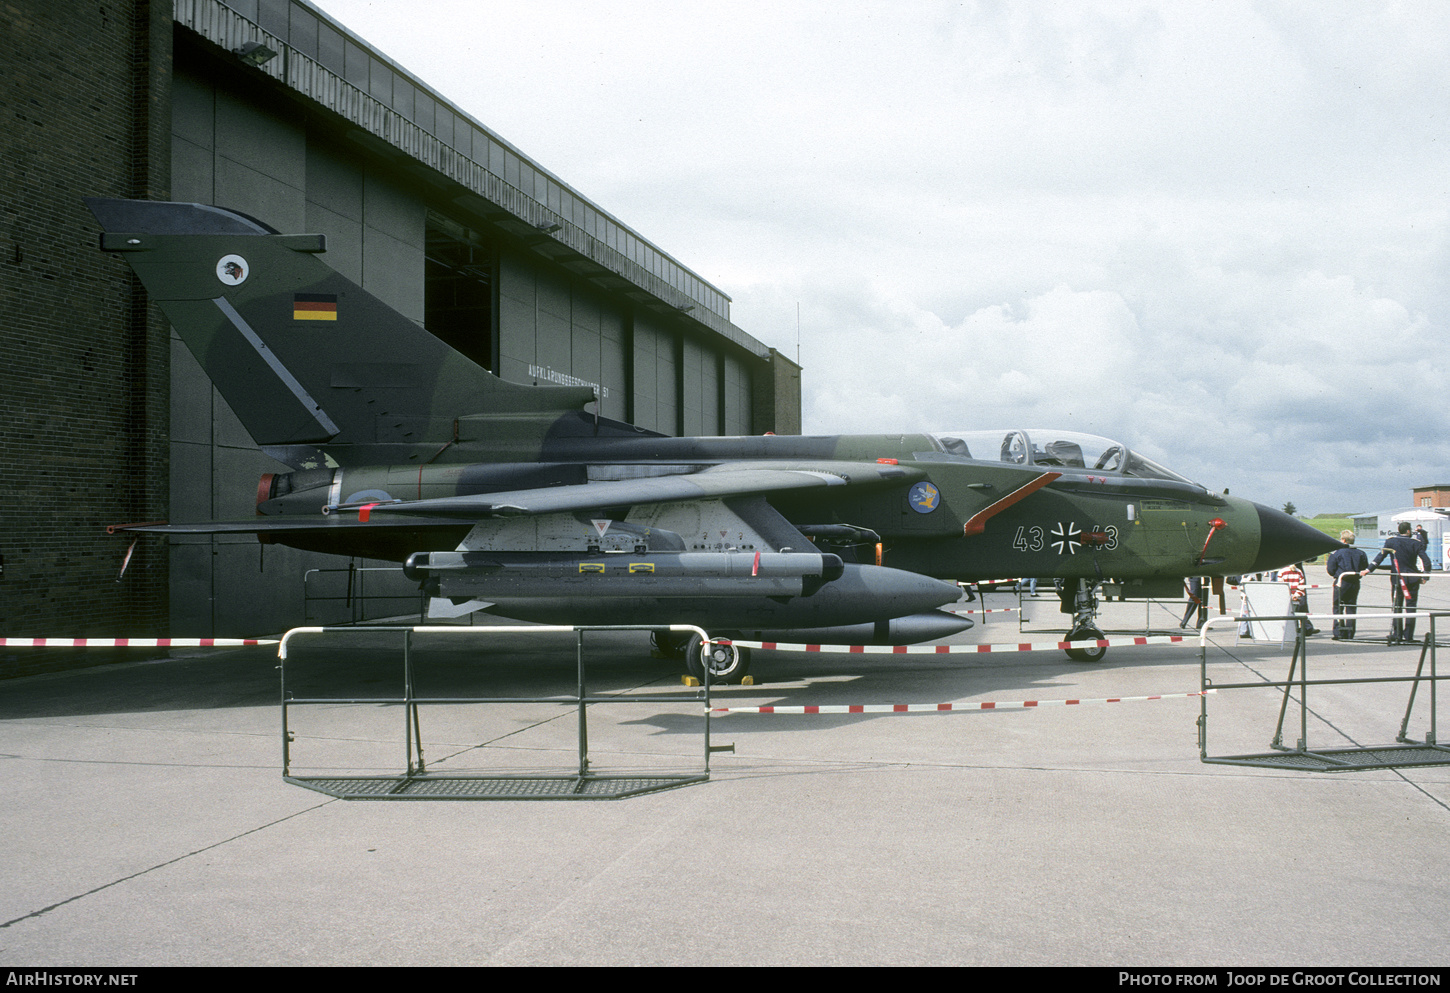
[[[771,349],[729,320],[729,297],[680,265],[307,0],[173,0],[173,19],[226,51],[265,45],[257,65],[406,162],[460,209],[581,278],[702,325],[757,358]]]

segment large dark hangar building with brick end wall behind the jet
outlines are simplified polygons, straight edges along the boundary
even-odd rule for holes
[[[142,539],[117,581],[106,525],[249,516],[278,467],[99,251],[86,196],[320,232],[334,268],[478,364],[594,386],[609,417],[799,432],[799,367],[724,291],[306,0],[0,7],[0,633],[280,631],[302,576],[339,565]]]

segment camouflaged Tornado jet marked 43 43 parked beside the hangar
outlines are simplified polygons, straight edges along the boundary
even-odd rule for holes
[[[960,632],[954,581],[1098,594],[1338,548],[1288,515],[1063,431],[670,438],[506,383],[284,235],[194,203],[86,201],[252,439],[257,516],[130,526],[403,562],[434,597],[550,623],[693,623],[737,639],[911,644]],[[1109,587],[1114,589],[1114,587]],[[658,641],[740,678],[731,644]],[[1070,655],[1096,660],[1103,645]]]

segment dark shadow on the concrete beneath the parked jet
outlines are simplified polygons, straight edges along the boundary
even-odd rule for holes
[[[683,707],[693,706],[697,691],[680,684],[683,664],[652,658],[647,636],[610,635],[608,641],[586,648],[589,694],[668,693],[679,694]],[[1141,652],[1109,654],[1103,662],[1093,665],[1072,662],[1051,652],[942,657],[758,652],[757,684],[719,687],[713,702],[719,706],[748,696],[757,705],[940,703],[961,697],[987,699],[1000,693],[1048,697],[1058,690],[1066,696],[1083,670],[1182,662],[1174,654]],[[573,644],[490,639],[486,645],[464,645],[432,639],[415,645],[413,670],[415,696],[419,697],[544,697],[577,691]],[[281,699],[278,660],[273,647],[219,649],[20,677],[6,680],[0,689],[0,719],[10,720],[277,707]],[[287,662],[287,690],[293,699],[400,697],[400,644],[387,644],[381,635],[367,635],[358,638],[358,644],[344,647],[297,644]],[[660,706],[667,709],[673,705]],[[693,715],[682,713],[680,719],[682,731],[697,729]],[[652,718],[645,723],[648,720]],[[663,722],[661,732],[674,734],[674,715],[661,712],[658,720]],[[822,718],[812,720],[818,723]]]

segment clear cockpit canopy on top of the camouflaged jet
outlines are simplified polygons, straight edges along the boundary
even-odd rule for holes
[[[1193,484],[1192,480],[1130,451],[1125,445],[1076,431],[953,431],[932,435],[932,439],[948,455],[983,462],[1086,470],[1103,475]]]

